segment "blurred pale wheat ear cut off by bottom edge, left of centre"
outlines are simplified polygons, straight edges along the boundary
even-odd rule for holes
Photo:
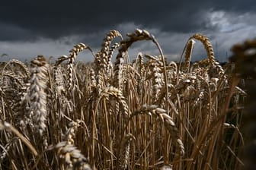
[[[63,141],[55,146],[50,146],[48,150],[53,149],[56,149],[59,158],[64,160],[66,169],[91,170],[88,160],[76,146]]]

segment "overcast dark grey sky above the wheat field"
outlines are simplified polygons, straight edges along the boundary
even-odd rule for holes
[[[237,42],[256,37],[256,1],[177,1],[177,0],[77,0],[2,1],[0,5],[1,61],[46,55],[68,55],[69,49],[83,42],[98,52],[109,30],[126,33],[136,28],[148,30],[162,46],[170,61],[177,61],[187,39],[194,33],[210,38],[219,61],[230,55]],[[152,42],[136,42],[129,54],[158,55]],[[196,42],[194,60],[206,52]],[[89,52],[78,55],[91,61]]]

